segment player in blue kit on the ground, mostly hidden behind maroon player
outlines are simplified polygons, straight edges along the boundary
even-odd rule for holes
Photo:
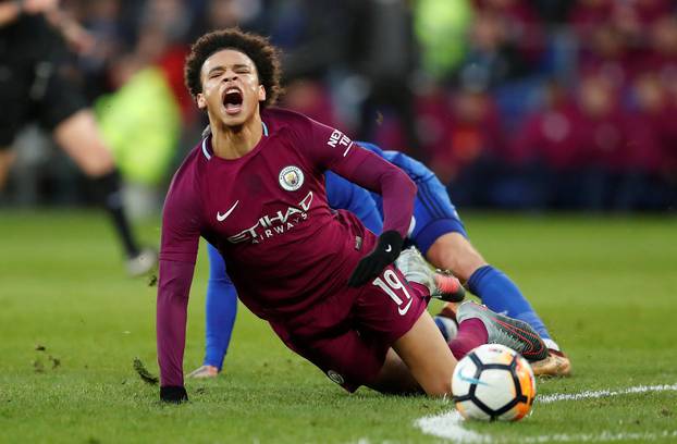
[[[547,332],[517,285],[501,270],[489,264],[470,244],[468,234],[450,196],[435,174],[421,162],[399,152],[382,150],[377,145],[359,141],[364,148],[399,166],[418,186],[414,217],[407,242],[416,246],[434,267],[450,270],[482,303],[495,312],[506,313],[529,323],[549,347],[547,358],[531,362],[536,374],[564,377],[570,373],[570,361]],[[327,197],[335,209],[355,213],[372,232],[383,227],[381,196],[329,171]],[[226,274],[219,251],[208,244],[210,274],[207,287],[206,356],[190,378],[216,377],[222,369],[237,312],[237,294]],[[435,323],[447,341],[456,334],[456,305],[448,303],[435,317]]]

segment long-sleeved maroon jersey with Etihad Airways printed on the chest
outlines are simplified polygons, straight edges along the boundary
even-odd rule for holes
[[[188,291],[199,236],[223,255],[242,301],[280,321],[345,288],[376,236],[349,212],[327,203],[333,170],[383,195],[383,230],[403,236],[416,186],[337,130],[301,114],[261,112],[263,136],[237,159],[213,155],[210,137],[188,155],[164,202],[158,287],[162,385],[183,385]]]

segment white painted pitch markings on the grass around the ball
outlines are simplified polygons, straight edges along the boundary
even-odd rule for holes
[[[606,396],[629,395],[636,393],[647,392],[667,392],[677,391],[677,384],[673,385],[638,385],[635,387],[623,390],[603,390],[603,391],[586,391],[581,393],[556,393],[552,395],[539,396],[537,402],[543,404],[556,403],[559,400],[580,400],[600,398]],[[507,442],[506,439],[494,439],[490,434],[478,433],[472,430],[466,430],[463,427],[463,417],[454,409],[441,415],[434,415],[417,419],[414,424],[421,429],[426,434],[431,434],[438,437],[452,440],[455,443],[460,444],[498,444]],[[661,432],[647,432],[647,433],[633,433],[633,432],[610,432],[603,431],[600,433],[578,433],[578,434],[550,434],[538,436],[522,436],[520,442],[524,443],[547,443],[547,442],[614,442],[614,441],[655,441],[660,439],[677,437],[677,430]]]

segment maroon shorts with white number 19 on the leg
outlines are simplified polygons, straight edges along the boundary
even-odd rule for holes
[[[376,381],[387,349],[411,329],[428,299],[391,266],[372,283],[346,285],[303,314],[271,326],[291,349],[355,392]]]

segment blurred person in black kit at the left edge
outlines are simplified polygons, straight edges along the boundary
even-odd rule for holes
[[[84,94],[61,67],[67,46],[86,33],[60,10],[58,0],[0,0],[0,189],[19,131],[37,123],[93,181],[127,257],[127,272],[143,275],[157,262],[134,238],[121,200],[120,173]]]

